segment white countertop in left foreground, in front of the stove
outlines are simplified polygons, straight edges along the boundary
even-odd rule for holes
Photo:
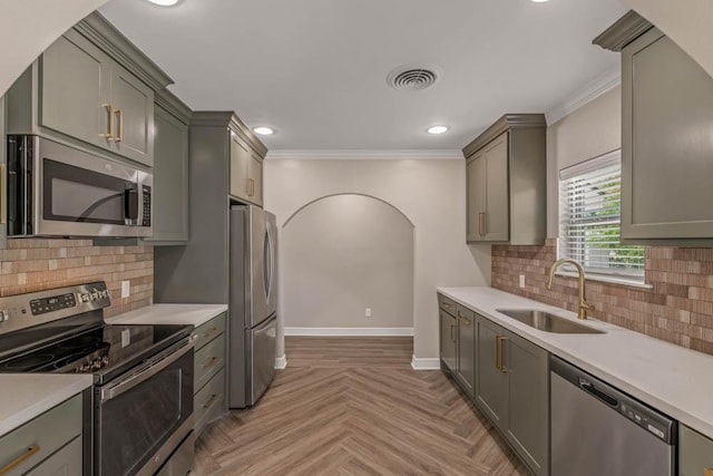
[[[0,373],[0,436],[91,387],[90,375]]]

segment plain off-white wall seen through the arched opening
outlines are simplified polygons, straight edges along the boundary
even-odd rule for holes
[[[282,263],[285,328],[413,327],[413,225],[384,202],[306,205],[283,229]]]

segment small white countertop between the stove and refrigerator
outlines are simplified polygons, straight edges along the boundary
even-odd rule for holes
[[[189,324],[198,327],[227,311],[226,304],[152,304],[106,319],[109,324]]]

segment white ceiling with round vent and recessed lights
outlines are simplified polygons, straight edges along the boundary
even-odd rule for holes
[[[270,149],[461,148],[505,113],[546,113],[618,55],[592,39],[622,0],[113,0],[109,21],[194,110],[276,130]],[[431,88],[388,74],[436,65]],[[434,124],[450,130],[426,134]]]

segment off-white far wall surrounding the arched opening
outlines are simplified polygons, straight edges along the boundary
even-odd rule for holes
[[[413,352],[438,357],[436,288],[490,283],[490,246],[466,244],[466,162],[267,159],[264,177],[265,208],[277,215],[281,230],[305,204],[338,194],[379,198],[409,218],[414,233]],[[284,234],[280,237],[282,251]],[[284,314],[290,310],[280,281],[279,313]],[[284,350],[280,326],[277,354]]]

